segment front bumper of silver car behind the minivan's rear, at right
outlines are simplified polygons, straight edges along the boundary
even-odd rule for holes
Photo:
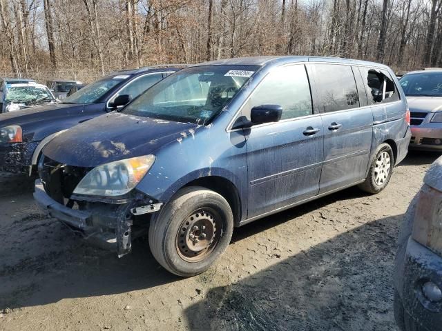
[[[442,151],[442,123],[423,123],[411,126],[412,141],[410,148]]]

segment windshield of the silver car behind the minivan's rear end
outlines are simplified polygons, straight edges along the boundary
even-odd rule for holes
[[[442,97],[442,72],[405,74],[399,82],[407,97]]]

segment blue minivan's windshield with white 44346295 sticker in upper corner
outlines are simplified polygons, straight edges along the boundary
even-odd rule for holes
[[[171,121],[209,123],[258,66],[200,66],[171,74],[122,112]]]

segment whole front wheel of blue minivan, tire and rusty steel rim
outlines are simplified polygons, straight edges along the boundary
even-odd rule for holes
[[[233,213],[227,200],[212,190],[191,186],[177,192],[153,217],[149,246],[166,270],[191,277],[209,269],[224,253],[232,233]],[[195,252],[198,245],[204,249]]]

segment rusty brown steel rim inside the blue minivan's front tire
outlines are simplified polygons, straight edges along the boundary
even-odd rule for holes
[[[213,252],[222,233],[219,214],[211,208],[192,212],[177,232],[177,252],[184,261],[199,262]]]

